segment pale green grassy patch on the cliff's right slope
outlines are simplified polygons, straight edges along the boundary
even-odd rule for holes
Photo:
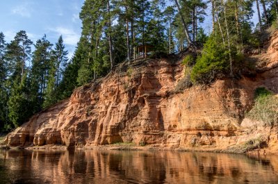
[[[246,117],[268,125],[278,125],[277,107],[278,97],[275,97],[265,87],[259,87],[255,91],[254,106],[250,112],[247,112]]]

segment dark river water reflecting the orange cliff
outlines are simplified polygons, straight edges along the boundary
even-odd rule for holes
[[[0,151],[0,183],[278,183],[278,156]]]

